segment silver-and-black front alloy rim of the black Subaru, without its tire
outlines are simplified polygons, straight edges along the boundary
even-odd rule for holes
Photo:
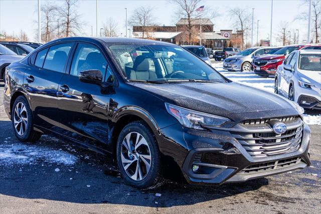
[[[121,163],[127,175],[139,181],[144,179],[151,166],[151,153],[146,139],[137,132],[128,133],[121,145]]]

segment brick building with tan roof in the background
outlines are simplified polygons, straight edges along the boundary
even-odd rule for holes
[[[214,31],[214,24],[210,19],[194,19],[191,25],[193,45],[199,45],[201,40],[202,45],[214,50],[222,50],[225,47],[241,48],[242,31]],[[175,26],[146,26],[144,31],[141,26],[133,26],[132,37],[189,45],[187,26],[188,19],[180,19]]]

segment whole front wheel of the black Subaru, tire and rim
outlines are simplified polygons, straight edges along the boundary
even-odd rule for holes
[[[153,133],[144,122],[134,121],[123,128],[117,141],[116,157],[127,184],[139,189],[153,189],[164,184],[161,154]]]

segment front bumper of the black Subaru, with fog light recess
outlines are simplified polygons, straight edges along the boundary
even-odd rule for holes
[[[242,182],[310,165],[310,130],[307,125],[302,127],[302,140],[296,151],[259,158],[251,156],[228,131],[212,130],[209,133],[184,129],[184,141],[191,149],[182,164],[182,171],[191,184]],[[193,165],[199,169],[193,171]]]

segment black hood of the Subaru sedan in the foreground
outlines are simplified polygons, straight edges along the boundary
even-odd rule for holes
[[[229,83],[134,83],[158,98],[188,109],[242,120],[241,113],[256,113],[256,118],[297,115],[294,104],[287,99],[243,84]],[[283,110],[283,111],[282,111]],[[268,114],[271,112],[273,114]],[[261,114],[257,114],[261,113]],[[248,114],[252,117],[253,114]],[[272,116],[273,115],[273,116]],[[246,117],[245,117],[246,118]]]

